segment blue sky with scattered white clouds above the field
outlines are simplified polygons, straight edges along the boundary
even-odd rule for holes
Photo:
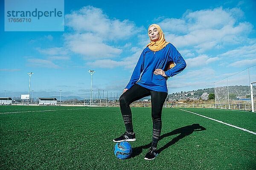
[[[96,71],[94,91],[120,95],[149,42],[152,23],[187,62],[183,72],[169,78],[169,94],[211,88],[256,65],[255,0],[64,2],[65,31],[4,31],[1,1],[0,96],[5,90],[11,97],[27,94],[32,71],[34,97],[58,96],[61,90],[63,96],[88,98],[89,69]],[[243,78],[235,84],[248,85]]]

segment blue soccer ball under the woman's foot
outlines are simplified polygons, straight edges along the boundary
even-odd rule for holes
[[[131,144],[129,142],[118,142],[115,145],[114,153],[116,158],[127,159],[131,156]]]

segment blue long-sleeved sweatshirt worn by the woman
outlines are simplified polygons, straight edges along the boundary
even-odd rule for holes
[[[166,71],[170,61],[175,62],[176,65]],[[131,79],[125,88],[130,89],[137,83],[152,91],[163,91],[167,93],[166,77],[155,75],[155,69],[160,68],[165,71],[167,77],[172,77],[183,71],[185,67],[185,60],[171,43],[167,44],[162,50],[155,52],[146,47],[140,54]]]

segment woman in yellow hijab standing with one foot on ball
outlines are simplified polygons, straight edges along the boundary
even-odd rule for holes
[[[186,62],[175,46],[170,42],[166,42],[160,26],[157,24],[149,26],[148,36],[150,43],[140,55],[131,75],[130,82],[119,98],[126,132],[119,138],[113,139],[113,142],[136,140],[129,105],[138,99],[150,95],[153,137],[152,145],[144,159],[151,160],[158,155],[157,142],[162,128],[162,108],[167,97],[166,80],[168,77],[172,77],[183,71],[186,67]],[[175,66],[173,62],[176,63]]]

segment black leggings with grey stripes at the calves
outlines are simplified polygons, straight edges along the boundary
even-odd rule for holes
[[[151,116],[153,120],[152,142],[157,144],[162,128],[161,116],[167,93],[162,91],[152,91],[148,88],[135,84],[120,96],[119,103],[126,130],[133,133],[130,104],[149,95],[151,96]]]

